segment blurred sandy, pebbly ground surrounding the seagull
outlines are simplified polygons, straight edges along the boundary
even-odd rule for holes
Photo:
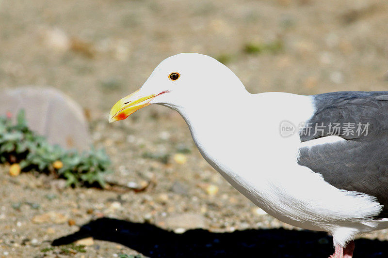
[[[91,141],[112,160],[107,181],[134,189],[69,188],[32,173],[11,177],[2,166],[0,257],[173,257],[165,253],[176,246],[142,249],[93,236],[81,238],[81,250],[51,246],[104,218],[150,223],[174,237],[192,228],[294,229],[213,170],[176,112],[149,106],[108,124],[109,110],[181,52],[223,62],[251,93],[388,90],[387,11],[384,0],[0,0],[0,90],[52,87],[72,98]],[[329,238],[309,237],[312,250],[330,254]],[[386,240],[387,231],[364,239]],[[215,256],[219,242],[211,241],[204,248]],[[180,257],[189,257],[185,250]],[[384,257],[373,255],[366,257]]]

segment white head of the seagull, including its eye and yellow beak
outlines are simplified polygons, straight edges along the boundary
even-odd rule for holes
[[[120,99],[109,113],[109,122],[126,119],[151,104],[202,109],[229,103],[246,94],[239,78],[219,61],[197,53],[181,53],[162,61],[137,91]]]

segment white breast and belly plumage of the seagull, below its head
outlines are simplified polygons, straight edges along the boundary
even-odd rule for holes
[[[339,190],[297,164],[299,135],[282,137],[279,126],[283,120],[307,121],[313,106],[309,97],[278,94],[252,95],[245,105],[181,114],[209,164],[281,221],[334,232],[344,221],[363,221],[379,212],[381,206],[372,197]],[[370,230],[370,225],[365,227]]]

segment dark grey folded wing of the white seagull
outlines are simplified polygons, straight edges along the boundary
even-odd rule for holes
[[[388,91],[329,92],[313,98],[316,112],[301,129],[301,141],[331,135],[346,141],[301,148],[298,164],[339,189],[376,197],[384,205],[379,217],[387,217]],[[339,130],[334,124],[340,124]]]

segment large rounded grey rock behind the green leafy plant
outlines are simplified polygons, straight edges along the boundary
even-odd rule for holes
[[[0,115],[14,119],[26,112],[29,127],[65,149],[87,150],[91,144],[88,124],[81,106],[53,88],[21,87],[0,92]]]

